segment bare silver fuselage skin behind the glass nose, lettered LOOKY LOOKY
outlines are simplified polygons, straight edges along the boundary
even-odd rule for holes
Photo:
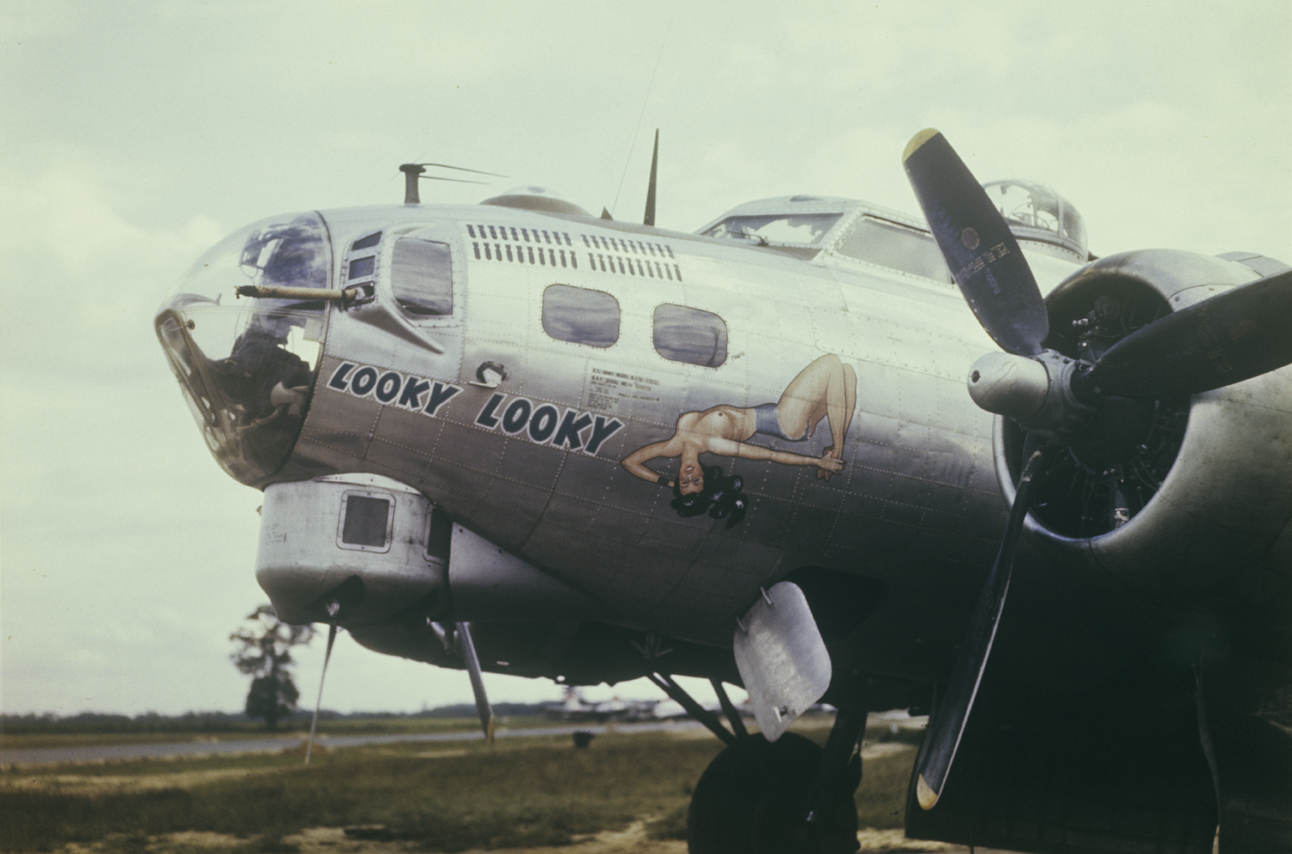
[[[959,593],[981,583],[1006,510],[991,416],[973,406],[964,381],[966,366],[994,345],[953,286],[508,208],[324,217],[339,260],[353,240],[391,222],[434,226],[453,247],[455,311],[403,317],[382,276],[390,253],[379,256],[375,304],[331,311],[288,472],[371,472],[408,483],[460,525],[601,602],[616,624],[703,643],[729,645],[735,615],[760,587],[795,568],[862,574],[889,589],[868,621],[876,638],[916,638],[870,645],[886,659],[876,669],[910,674],[944,664],[961,621],[948,618],[972,601]],[[341,287],[345,265],[335,266]],[[548,335],[541,302],[554,283],[611,295],[621,310],[618,341],[594,348]],[[651,319],[665,304],[725,320],[721,366],[656,351]],[[828,482],[808,466],[713,460],[743,478],[749,499],[743,522],[729,528],[708,516],[680,518],[669,490],[620,464],[668,439],[683,412],[775,402],[822,354],[857,375],[846,466]],[[496,388],[479,380],[488,363],[506,372]],[[355,366],[349,377],[336,379],[346,364]],[[412,398],[402,406],[398,394],[382,403],[376,389],[357,394],[346,382],[363,367],[397,373],[403,388],[441,382],[439,397],[451,397],[434,415],[432,393],[420,406]],[[528,404],[509,408],[518,399]],[[535,424],[543,407],[588,425],[578,441],[568,430],[561,437],[559,422],[557,430]],[[824,421],[805,442],[751,439],[805,456],[831,442]],[[677,460],[654,466],[676,477]]]

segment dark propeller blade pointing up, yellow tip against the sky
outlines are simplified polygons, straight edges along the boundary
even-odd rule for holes
[[[1040,288],[1005,217],[937,130],[902,155],[907,178],[960,292],[1006,353],[1036,355],[1049,335]]]

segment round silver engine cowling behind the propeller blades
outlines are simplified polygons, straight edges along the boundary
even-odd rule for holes
[[[1089,360],[1156,317],[1253,278],[1248,266],[1187,252],[1110,256],[1047,297],[1047,345]],[[1047,550],[1174,599],[1284,559],[1270,553],[1292,522],[1292,368],[1140,408],[1118,417],[1125,435],[1074,442],[1034,483],[1027,528]],[[1022,430],[997,417],[994,444],[1013,503]]]

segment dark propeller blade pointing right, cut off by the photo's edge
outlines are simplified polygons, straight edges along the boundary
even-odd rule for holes
[[[1121,338],[1080,384],[1096,394],[1198,394],[1292,364],[1292,270],[1172,311]]]

